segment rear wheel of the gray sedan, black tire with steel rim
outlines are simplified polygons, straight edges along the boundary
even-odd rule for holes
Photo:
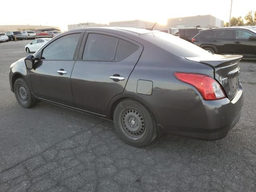
[[[143,147],[157,136],[157,124],[153,114],[140,102],[126,99],[114,111],[114,126],[124,142]]]

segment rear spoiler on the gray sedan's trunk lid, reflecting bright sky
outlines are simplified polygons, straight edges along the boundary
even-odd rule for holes
[[[213,67],[224,67],[236,64],[243,58],[242,55],[218,55],[212,54],[200,57],[186,57],[187,60],[204,63]]]

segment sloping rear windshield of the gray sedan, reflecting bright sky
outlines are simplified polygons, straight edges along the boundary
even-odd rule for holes
[[[141,38],[152,42],[164,50],[181,57],[211,55],[208,51],[176,36],[167,33],[141,34]]]

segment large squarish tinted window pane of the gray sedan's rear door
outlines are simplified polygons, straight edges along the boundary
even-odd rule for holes
[[[90,33],[86,40],[83,60],[112,61],[118,38]]]

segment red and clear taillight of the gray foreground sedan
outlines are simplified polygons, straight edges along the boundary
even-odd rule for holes
[[[176,72],[174,76],[178,80],[194,86],[200,92],[204,100],[218,100],[226,97],[220,84],[208,75]]]

